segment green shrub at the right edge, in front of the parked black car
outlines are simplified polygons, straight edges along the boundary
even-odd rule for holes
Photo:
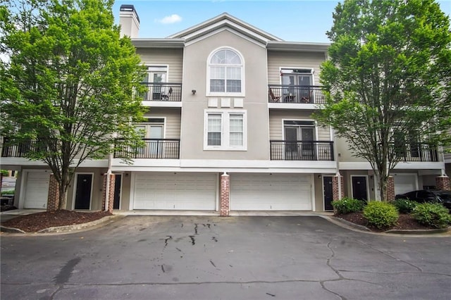
[[[416,208],[414,208],[412,215],[418,223],[436,228],[445,228],[451,224],[450,213],[442,204],[418,204]]]

